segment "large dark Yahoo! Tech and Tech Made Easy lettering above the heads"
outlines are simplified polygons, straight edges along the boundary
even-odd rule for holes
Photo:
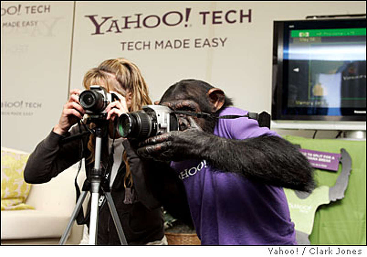
[[[196,16],[193,18],[193,16]],[[193,19],[199,21],[200,26],[219,24],[251,23],[252,10],[216,10],[197,11],[185,8],[185,11],[168,11],[162,15],[135,13],[126,16],[99,16],[98,14],[84,15],[91,24],[90,35],[104,35],[108,33],[123,33],[129,29],[154,29],[160,26],[181,26],[192,28]],[[227,37],[214,38],[181,38],[164,40],[135,40],[121,41],[122,51],[157,50],[157,49],[188,49],[204,47],[224,47]]]

